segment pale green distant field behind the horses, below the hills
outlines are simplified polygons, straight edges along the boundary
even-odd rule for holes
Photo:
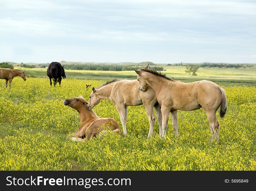
[[[208,68],[200,67],[197,76],[189,76],[185,73],[184,66],[161,66],[166,71],[168,77],[174,78],[182,82],[193,82],[198,80],[210,80],[219,85],[256,85],[256,65],[246,68]],[[25,73],[35,77],[47,77],[47,68],[21,68],[25,69]],[[77,79],[136,79],[137,75],[134,71],[95,71],[95,70],[65,70],[67,78]],[[47,77],[48,78],[48,77]]]

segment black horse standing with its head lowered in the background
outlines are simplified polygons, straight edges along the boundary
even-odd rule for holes
[[[50,78],[50,85],[52,84],[51,78],[54,79],[53,81],[54,86],[57,84],[57,78],[58,78],[59,84],[61,87],[61,79],[62,79],[61,76],[63,78],[66,78],[64,66],[61,66],[61,64],[58,62],[52,62],[47,69],[47,76]]]

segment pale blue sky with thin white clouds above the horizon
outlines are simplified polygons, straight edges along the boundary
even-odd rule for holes
[[[0,62],[256,63],[255,0],[0,0]]]

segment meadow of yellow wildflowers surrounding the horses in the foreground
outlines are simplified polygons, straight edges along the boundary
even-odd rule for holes
[[[215,79],[223,75],[221,78],[230,80],[236,70],[240,69],[228,74],[216,71]],[[46,69],[27,69],[26,74],[36,71],[46,76]],[[8,92],[4,80],[0,80],[1,170],[256,170],[254,86],[221,85],[227,93],[228,107],[223,119],[217,112],[219,142],[209,143],[209,122],[202,109],[178,112],[178,140],[171,119],[165,141],[159,138],[157,122],[152,138],[147,139],[149,122],[143,105],[129,107],[126,137],[108,133],[101,139],[73,142],[68,135],[77,131],[80,119],[77,111],[63,105],[64,99],[82,95],[88,100],[91,91],[86,91],[85,84],[97,87],[105,81],[70,78],[75,72],[86,76],[90,71],[67,71],[61,87],[50,87],[48,78],[23,81],[16,77]],[[176,79],[178,69],[175,72],[168,76]],[[129,73],[133,71],[124,75]],[[202,74],[207,75],[203,68]],[[249,71],[246,74],[245,80],[255,85],[255,76]],[[182,72],[179,76],[185,78]],[[200,77],[198,73],[196,78]],[[99,117],[113,117],[121,125],[111,101],[102,100],[93,110]]]

